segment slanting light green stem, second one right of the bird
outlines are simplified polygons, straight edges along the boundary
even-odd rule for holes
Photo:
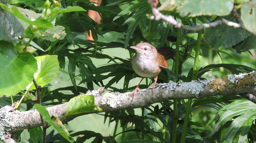
[[[199,60],[202,32],[203,31],[200,30],[198,32],[198,36],[197,36],[196,56],[195,56],[195,61],[194,61],[192,80],[197,79],[197,68],[198,68],[198,60]],[[189,119],[189,114],[190,114],[190,110],[191,110],[191,103],[192,103],[192,99],[188,99],[188,103],[187,103],[187,107],[186,107],[187,110],[185,113],[184,124],[183,124],[182,133],[181,133],[181,143],[185,143],[186,132],[187,132],[187,127],[188,127],[188,119]]]

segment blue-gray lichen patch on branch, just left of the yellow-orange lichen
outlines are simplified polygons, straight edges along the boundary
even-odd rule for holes
[[[184,91],[190,91],[192,94],[199,94],[203,91],[203,87],[214,79],[192,80],[191,82],[178,83]]]

